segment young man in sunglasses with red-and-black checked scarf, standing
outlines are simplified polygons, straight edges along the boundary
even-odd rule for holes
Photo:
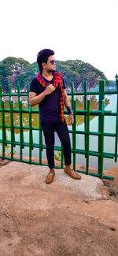
[[[64,117],[64,104],[68,109],[69,124],[74,123],[71,104],[66,93],[65,83],[61,72],[56,72],[56,60],[54,52],[44,49],[37,55],[39,74],[31,81],[29,104],[39,104],[40,121],[46,142],[46,156],[50,173],[46,177],[46,184],[53,181],[54,173],[54,131],[57,132],[63,145],[65,156],[65,173],[73,179],[79,180],[79,176],[71,168],[71,144],[68,127]]]

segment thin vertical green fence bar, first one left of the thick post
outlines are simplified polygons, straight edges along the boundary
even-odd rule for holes
[[[90,144],[90,100],[87,100],[87,144],[86,144],[86,173],[89,173],[89,144]]]

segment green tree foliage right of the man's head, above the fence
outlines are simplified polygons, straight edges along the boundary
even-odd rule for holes
[[[72,77],[76,91],[80,86],[83,89],[84,78],[87,78],[88,89],[96,87],[100,80],[105,80],[106,85],[109,85],[109,80],[103,72],[83,61],[57,61],[57,69],[63,73],[67,87]]]

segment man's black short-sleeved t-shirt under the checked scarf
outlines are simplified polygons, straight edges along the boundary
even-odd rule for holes
[[[53,80],[48,81],[45,77],[43,78],[46,82],[50,82],[50,84],[53,82]],[[64,80],[63,84],[65,90],[66,87]],[[31,81],[30,91],[35,92],[36,95],[41,94],[43,91],[45,91],[45,89],[46,87],[42,87],[36,77]],[[41,123],[44,121],[56,121],[57,119],[60,119],[59,92],[60,88],[57,86],[57,88],[50,95],[46,95],[46,98],[39,103]]]

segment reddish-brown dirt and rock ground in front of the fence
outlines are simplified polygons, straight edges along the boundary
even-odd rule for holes
[[[114,180],[1,161],[0,256],[117,256],[118,168]],[[106,174],[106,173],[105,173]]]

